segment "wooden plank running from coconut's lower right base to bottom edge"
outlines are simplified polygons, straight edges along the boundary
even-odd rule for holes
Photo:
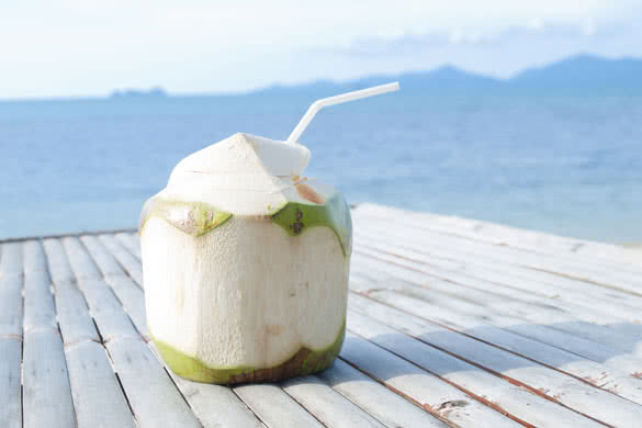
[[[447,427],[342,360],[335,361],[318,378],[387,427]]]

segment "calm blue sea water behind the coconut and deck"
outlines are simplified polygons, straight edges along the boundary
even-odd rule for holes
[[[285,138],[314,95],[0,102],[0,238],[135,227],[188,154]],[[324,110],[308,177],[350,203],[642,241],[642,98],[384,95]]]

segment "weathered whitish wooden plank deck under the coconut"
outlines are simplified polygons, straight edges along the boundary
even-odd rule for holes
[[[640,252],[372,204],[353,224],[335,365],[233,388],[164,367],[134,233],[0,243],[0,426],[641,426]]]

